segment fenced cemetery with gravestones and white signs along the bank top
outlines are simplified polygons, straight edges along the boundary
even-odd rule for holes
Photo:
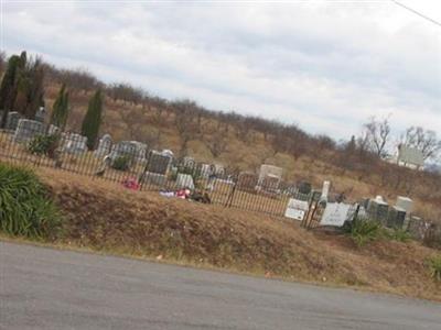
[[[228,173],[219,163],[197,163],[190,156],[179,160],[170,150],[149,150],[138,141],[114,141],[109,134],[104,134],[96,148],[89,151],[86,136],[46,127],[44,118],[19,119],[11,112],[9,119],[8,130],[2,133],[2,144],[9,143],[3,157],[61,167],[119,182],[131,189],[160,191],[162,196],[179,196],[184,189],[190,191],[187,197],[193,193],[206,195],[205,202],[284,217],[306,229],[343,228],[354,219],[369,219],[385,228],[408,229],[412,237],[422,239],[423,229],[430,228],[417,223],[424,222],[412,215],[412,200],[408,197],[398,196],[390,205],[381,196],[346,202],[332,191],[331,182],[325,180],[321,190],[314,190],[306,182],[287,184],[283,168],[269,164],[262,164],[258,173]],[[45,135],[60,136],[56,158],[51,160],[47,153],[26,152],[25,146],[33,139]]]

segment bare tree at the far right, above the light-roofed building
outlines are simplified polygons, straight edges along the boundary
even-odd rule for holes
[[[441,140],[438,140],[437,133],[421,127],[408,128],[401,136],[401,142],[421,151],[424,161],[434,160],[441,152]]]

